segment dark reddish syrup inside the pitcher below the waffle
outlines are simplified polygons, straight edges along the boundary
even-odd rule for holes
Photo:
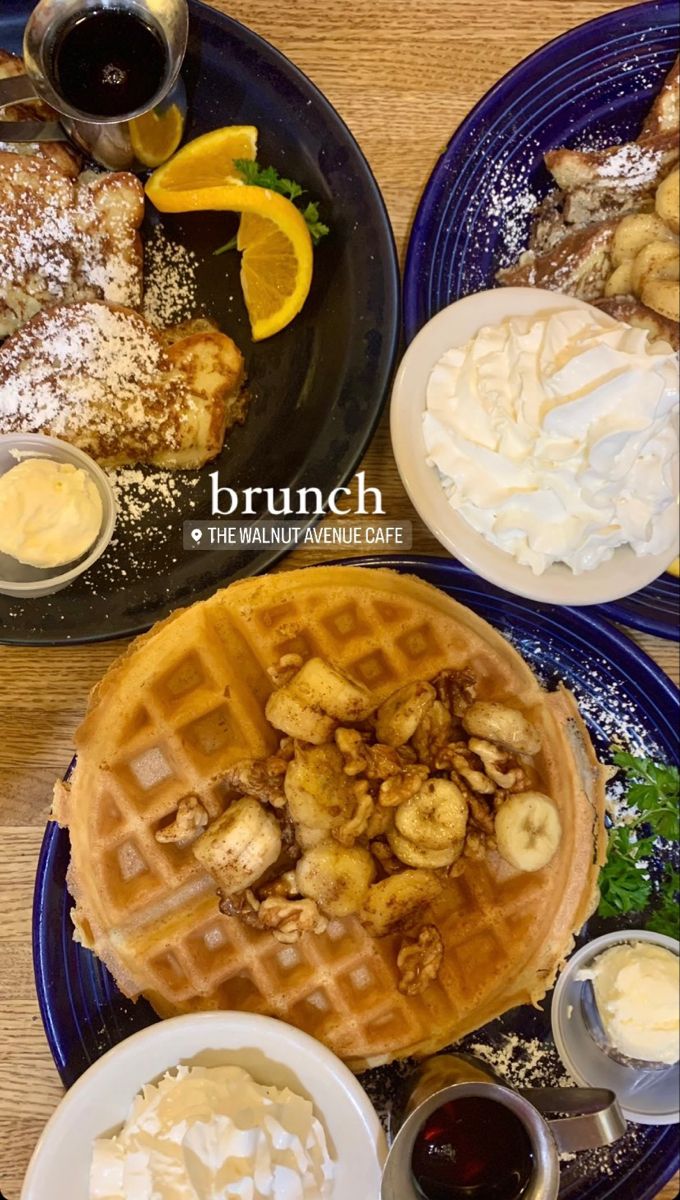
[[[411,1156],[423,1200],[522,1200],[534,1154],[522,1121],[504,1104],[465,1096],[437,1109]]]

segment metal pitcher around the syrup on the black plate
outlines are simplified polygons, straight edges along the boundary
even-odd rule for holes
[[[164,71],[158,88],[131,112],[94,116],[74,107],[62,94],[55,70],[55,48],[62,32],[89,13],[130,13],[157,36],[164,52]],[[25,74],[0,79],[0,143],[72,140],[90,158],[112,170],[160,166],[138,154],[134,122],[148,113],[162,120],[174,108],[176,144],[183,131],[187,102],[180,70],[188,37],[187,0],[40,0],[24,32]],[[2,108],[43,100],[56,110],[58,121],[2,120]],[[137,146],[137,149],[136,149]],[[174,152],[176,145],[170,152]],[[169,157],[169,155],[168,155]]]

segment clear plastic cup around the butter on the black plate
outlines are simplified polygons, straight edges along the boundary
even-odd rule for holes
[[[86,472],[102,502],[102,520],[100,532],[89,550],[79,558],[61,566],[29,566],[11,554],[0,552],[0,593],[16,596],[18,600],[30,600],[61,592],[79,575],[89,570],[107,548],[116,518],[112,486],[101,467],[83,450],[78,450],[77,446],[68,445],[59,438],[43,437],[42,433],[6,433],[0,436],[0,476],[12,470],[18,462],[25,462],[28,458],[47,458],[53,462],[68,463]]]

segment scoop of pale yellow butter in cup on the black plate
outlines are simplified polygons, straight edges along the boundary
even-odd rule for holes
[[[102,498],[80,467],[25,458],[0,476],[0,551],[28,566],[62,566],[96,541]]]

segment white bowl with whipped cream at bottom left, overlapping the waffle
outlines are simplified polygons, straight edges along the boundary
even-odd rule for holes
[[[251,1013],[176,1016],[67,1092],[22,1200],[378,1200],[386,1154],[351,1072]]]

